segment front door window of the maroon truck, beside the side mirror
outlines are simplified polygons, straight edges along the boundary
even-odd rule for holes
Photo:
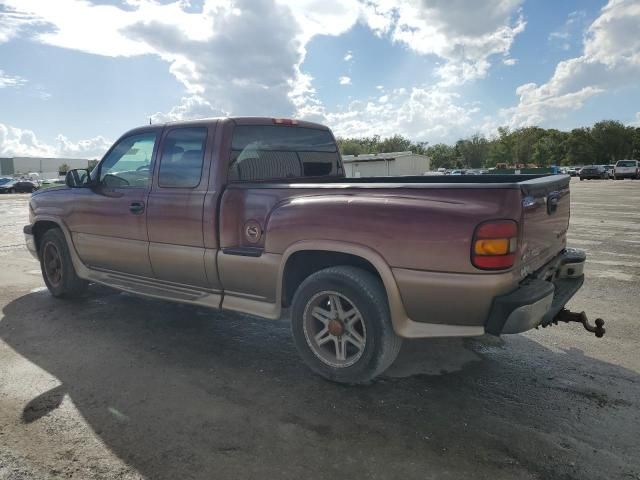
[[[148,187],[156,136],[157,132],[146,132],[121,140],[100,165],[100,182],[108,187]]]

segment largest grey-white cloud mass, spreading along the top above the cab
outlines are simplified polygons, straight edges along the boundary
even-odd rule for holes
[[[157,119],[203,111],[317,114],[313,79],[301,71],[314,36],[340,35],[362,21],[420,54],[442,57],[443,84],[457,84],[486,75],[490,56],[508,52],[524,28],[521,1],[204,0],[196,9],[185,8],[185,0],[128,0],[126,8],[3,0],[9,13],[0,17],[0,42],[37,25],[34,38],[48,45],[106,56],[158,55],[185,86],[185,98]]]

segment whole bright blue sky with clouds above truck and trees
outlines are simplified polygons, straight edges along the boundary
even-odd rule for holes
[[[640,125],[640,0],[0,0],[0,157],[227,115],[429,144]]]

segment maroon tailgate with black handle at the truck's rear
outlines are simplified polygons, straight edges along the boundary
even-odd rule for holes
[[[520,270],[535,272],[567,244],[570,196],[568,175],[522,182]]]

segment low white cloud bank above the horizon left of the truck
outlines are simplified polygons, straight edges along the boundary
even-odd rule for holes
[[[3,157],[100,158],[111,145],[102,136],[72,142],[58,135],[56,142],[57,145],[49,145],[38,140],[31,130],[0,123],[0,156]]]

